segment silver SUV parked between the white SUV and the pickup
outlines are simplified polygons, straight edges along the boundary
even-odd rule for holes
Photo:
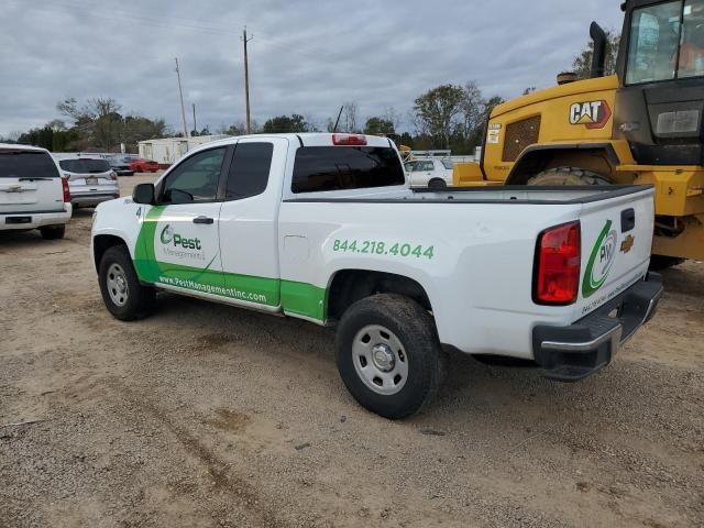
[[[87,154],[54,154],[68,179],[74,209],[120,197],[118,174],[107,160]]]

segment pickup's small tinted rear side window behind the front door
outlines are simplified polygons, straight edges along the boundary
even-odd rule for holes
[[[272,143],[238,143],[228,174],[226,200],[241,200],[264,193],[273,153]]]

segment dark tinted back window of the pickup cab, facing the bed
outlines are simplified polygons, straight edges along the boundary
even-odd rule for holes
[[[296,152],[292,191],[366,189],[404,185],[396,151],[377,146],[304,146]]]

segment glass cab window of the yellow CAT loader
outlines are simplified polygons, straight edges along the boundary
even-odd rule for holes
[[[626,84],[695,76],[704,76],[704,0],[678,0],[635,10]]]

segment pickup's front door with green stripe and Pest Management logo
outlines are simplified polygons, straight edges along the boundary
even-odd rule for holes
[[[228,147],[182,161],[157,185],[146,211],[135,265],[142,280],[167,289],[222,295],[218,184]]]

